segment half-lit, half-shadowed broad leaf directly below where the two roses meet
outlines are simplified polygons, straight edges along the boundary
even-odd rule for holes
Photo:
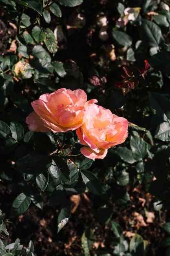
[[[70,170],[68,165],[61,157],[55,157],[52,159],[52,164],[48,169],[49,173],[55,177],[58,181],[70,182]]]

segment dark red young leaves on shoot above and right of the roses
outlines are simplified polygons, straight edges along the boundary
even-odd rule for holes
[[[145,79],[146,72],[150,69],[150,64],[145,60],[145,67],[133,67],[139,71],[143,79]],[[128,93],[129,89],[135,89],[139,85],[138,75],[135,75],[128,67],[123,67],[124,73],[121,77],[124,79],[122,82],[115,82],[115,85],[124,89],[124,93]]]

